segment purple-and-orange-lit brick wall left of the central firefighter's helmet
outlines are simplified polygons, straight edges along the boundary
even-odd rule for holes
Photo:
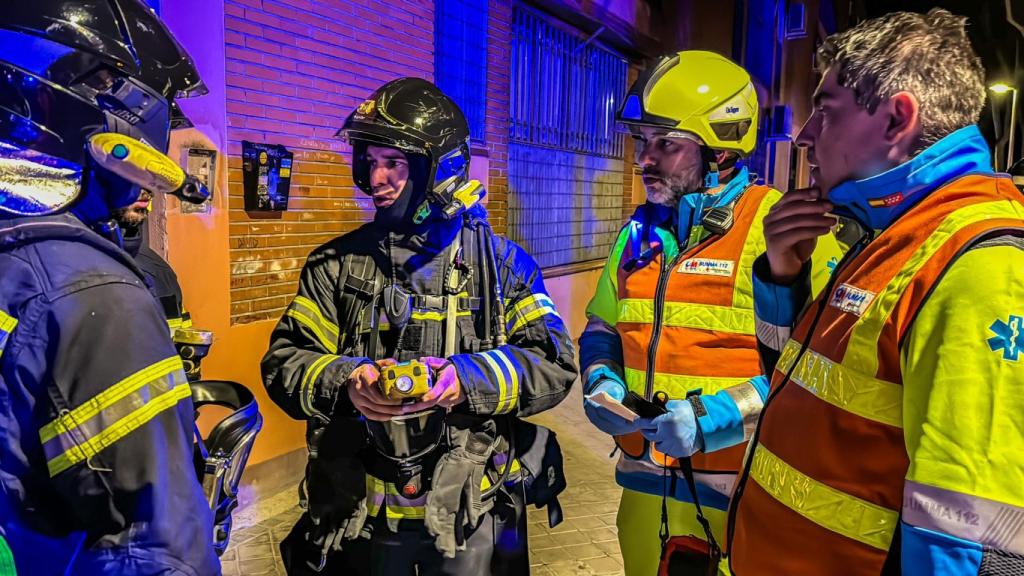
[[[433,1],[225,0],[224,29],[231,321],[246,323],[279,318],[308,253],[371,217],[334,133],[384,82],[432,78]],[[244,139],[295,153],[287,212],[243,210]]]

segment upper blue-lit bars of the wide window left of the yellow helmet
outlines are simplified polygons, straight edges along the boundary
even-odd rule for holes
[[[515,10],[512,38],[513,141],[621,158],[615,110],[626,93],[622,56],[531,11]]]

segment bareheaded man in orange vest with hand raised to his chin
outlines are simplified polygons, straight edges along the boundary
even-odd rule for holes
[[[772,207],[754,264],[774,372],[733,574],[1024,574],[1024,196],[975,126],[965,26],[892,13],[819,49],[814,187]],[[837,218],[859,239],[805,305]]]

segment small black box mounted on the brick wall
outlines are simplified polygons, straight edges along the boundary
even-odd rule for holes
[[[246,211],[288,210],[292,153],[281,145],[242,140],[242,186]]]

